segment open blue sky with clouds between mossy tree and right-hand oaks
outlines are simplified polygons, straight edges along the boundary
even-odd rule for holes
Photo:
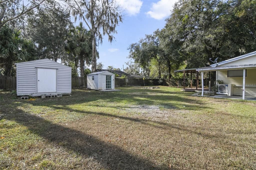
[[[103,39],[98,47],[100,58],[97,62],[102,62],[103,68],[113,65],[122,70],[123,65],[126,67],[124,62],[129,61],[127,47],[144,38],[145,34],[162,29],[175,0],[118,0],[118,3],[125,9],[124,21],[117,27],[118,33],[112,44],[108,38]]]

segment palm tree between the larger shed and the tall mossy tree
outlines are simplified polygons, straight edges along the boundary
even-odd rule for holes
[[[84,65],[90,64],[92,55],[91,33],[80,22],[69,30],[70,37],[66,41],[66,50],[73,55],[74,63],[80,66],[80,76],[84,77]]]

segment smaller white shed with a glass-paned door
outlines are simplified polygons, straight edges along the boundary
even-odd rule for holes
[[[115,75],[109,71],[100,71],[88,74],[87,88],[92,90],[115,89]]]

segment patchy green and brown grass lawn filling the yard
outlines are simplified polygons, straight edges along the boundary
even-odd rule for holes
[[[1,91],[0,169],[256,169],[256,102],[180,88]]]

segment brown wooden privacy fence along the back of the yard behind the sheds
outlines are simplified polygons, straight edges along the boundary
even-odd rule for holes
[[[86,77],[72,77],[72,88],[87,87]],[[118,86],[174,86],[183,87],[183,79],[120,79],[115,78],[115,87]],[[185,86],[189,86],[189,82],[185,82]],[[0,76],[0,89],[16,90],[16,77]]]

